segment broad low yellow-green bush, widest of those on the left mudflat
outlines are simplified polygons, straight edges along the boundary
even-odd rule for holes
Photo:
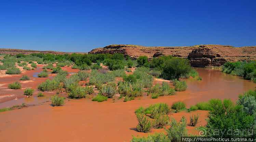
[[[41,91],[61,90],[62,85],[60,84],[60,82],[57,82],[55,80],[46,80],[45,82],[39,84],[37,86],[37,89]]]

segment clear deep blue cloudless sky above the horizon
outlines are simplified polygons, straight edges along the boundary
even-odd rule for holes
[[[0,48],[256,46],[255,0],[0,0]]]

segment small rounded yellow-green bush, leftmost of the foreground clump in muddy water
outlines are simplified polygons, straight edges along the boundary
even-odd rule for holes
[[[136,126],[139,132],[149,132],[150,129],[153,127],[151,120],[146,117],[144,114],[136,113],[138,125]]]

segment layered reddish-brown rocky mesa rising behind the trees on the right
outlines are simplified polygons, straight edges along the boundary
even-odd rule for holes
[[[130,55],[133,59],[147,56],[148,59],[172,55],[189,59],[193,67],[221,66],[228,61],[256,60],[256,46],[233,47],[229,45],[195,45],[183,47],[146,47],[139,45],[114,44],[95,48],[88,54]]]

